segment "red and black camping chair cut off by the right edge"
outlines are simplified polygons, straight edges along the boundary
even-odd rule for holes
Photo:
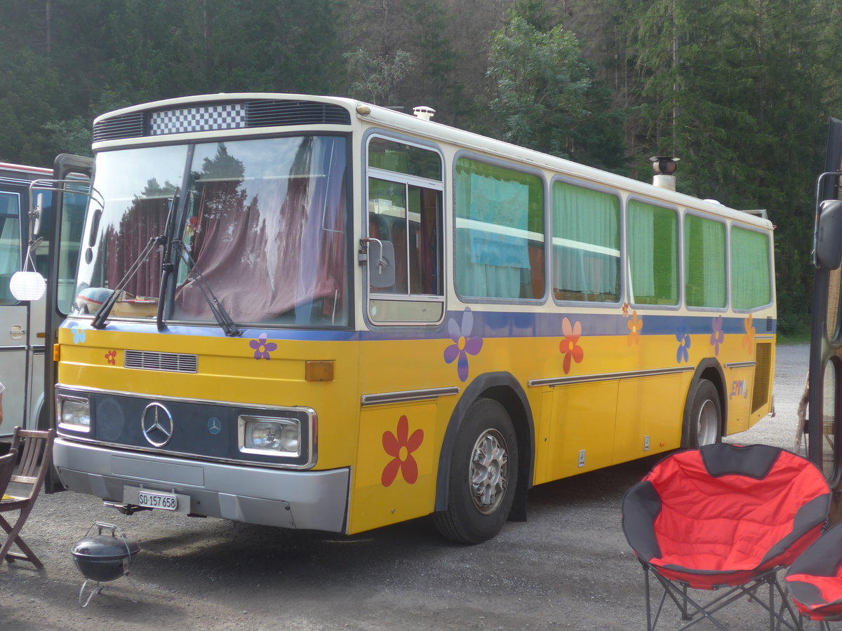
[[[824,533],[790,566],[785,576],[798,611],[821,628],[842,620],[842,523]]]

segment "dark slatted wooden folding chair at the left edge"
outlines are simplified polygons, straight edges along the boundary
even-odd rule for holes
[[[41,486],[44,485],[44,478],[47,475],[47,470],[50,469],[52,462],[52,443],[56,437],[56,430],[51,429],[47,432],[38,432],[35,430],[25,430],[20,427],[14,428],[14,439],[12,443],[12,450],[9,453],[20,453],[20,463],[17,473],[13,472],[14,456],[12,464],[9,466],[7,473],[8,480],[6,480],[6,488],[8,483],[14,482],[19,485],[26,485],[29,487],[29,492],[24,496],[2,495],[0,499],[0,528],[8,534],[6,543],[0,549],[0,562],[6,559],[12,563],[15,559],[29,561],[35,565],[39,570],[44,567],[35,553],[29,549],[29,546],[24,543],[24,539],[20,537],[20,531],[24,528],[26,518],[32,512],[32,507],[35,506],[35,500],[38,498]],[[2,462],[2,459],[0,459]],[[3,467],[0,465],[0,471]],[[2,479],[0,479],[2,480]],[[0,485],[3,482],[0,481]],[[4,512],[19,511],[18,519],[12,526],[3,517]],[[18,552],[10,552],[12,544],[18,546],[21,550]],[[21,554],[23,553],[23,554]]]

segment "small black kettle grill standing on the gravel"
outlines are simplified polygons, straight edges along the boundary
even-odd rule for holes
[[[97,533],[91,535],[94,528]],[[111,533],[103,534],[104,531]],[[114,524],[93,522],[85,537],[73,547],[73,561],[85,577],[82,589],[79,590],[79,607],[87,607],[91,598],[103,591],[101,583],[115,581],[120,576],[125,576],[137,589],[128,574],[140,549],[135,542],[125,538]],[[96,586],[85,597],[88,581],[96,581]]]

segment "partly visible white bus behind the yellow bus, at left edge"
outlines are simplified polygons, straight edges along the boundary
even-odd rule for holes
[[[62,155],[57,160],[66,158]],[[47,226],[56,193],[54,175],[52,168],[0,162],[0,383],[5,386],[0,441],[8,441],[16,426],[34,429],[49,424],[46,406],[51,396],[45,397],[44,391],[45,347],[51,347],[45,321],[47,296],[34,301],[17,300],[10,281],[14,273],[24,268],[51,277],[56,290],[61,291],[64,314],[69,312],[85,197],[73,193],[65,200],[66,225],[61,226],[64,259],[61,270],[56,270],[58,276],[51,274],[49,255],[54,232]],[[73,177],[78,178],[79,174]],[[87,176],[82,177],[88,181]]]

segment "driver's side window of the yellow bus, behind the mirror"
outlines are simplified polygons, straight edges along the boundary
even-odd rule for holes
[[[370,240],[391,244],[386,250],[393,252],[395,279],[386,287],[370,280],[373,322],[434,324],[444,315],[441,173],[435,151],[380,137],[369,141],[366,229]],[[379,263],[370,260],[368,269]]]

